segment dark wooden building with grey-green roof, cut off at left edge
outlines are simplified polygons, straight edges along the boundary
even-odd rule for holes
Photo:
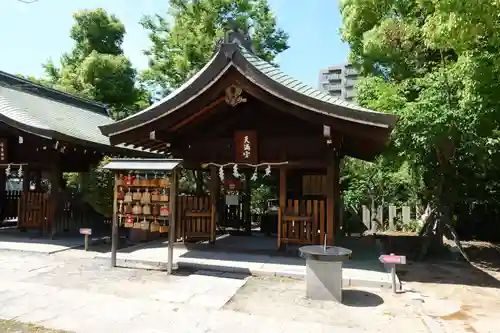
[[[0,221],[49,235],[103,224],[67,195],[63,172],[86,172],[105,155],[158,156],[112,146],[97,126],[113,122],[101,104],[0,72]]]

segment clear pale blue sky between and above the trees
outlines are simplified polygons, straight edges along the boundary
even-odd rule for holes
[[[338,0],[269,3],[279,26],[290,34],[290,49],[277,59],[284,72],[316,87],[320,69],[347,60],[348,47],[339,35]],[[57,62],[72,47],[68,37],[72,13],[94,8],[104,8],[124,23],[125,54],[138,69],[146,68],[142,50],[149,40],[138,22],[145,14],[166,13],[167,0],[38,0],[32,4],[0,0],[0,70],[41,76],[45,60]]]

